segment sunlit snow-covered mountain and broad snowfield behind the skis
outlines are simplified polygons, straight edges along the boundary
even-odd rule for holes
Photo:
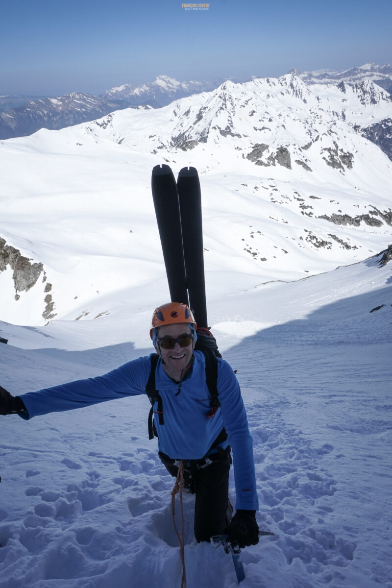
[[[354,88],[307,86],[293,75],[226,82],[162,109],[2,142],[2,316],[29,325],[102,318],[119,312],[114,291],[145,304],[156,276],[165,283],[149,186],[159,162],[199,170],[213,298],[225,295],[220,276],[233,268],[246,289],[387,247],[392,163],[356,128],[391,112],[377,92],[363,101]],[[32,268],[42,264],[38,277],[27,264],[25,279],[15,278],[10,247]]]

